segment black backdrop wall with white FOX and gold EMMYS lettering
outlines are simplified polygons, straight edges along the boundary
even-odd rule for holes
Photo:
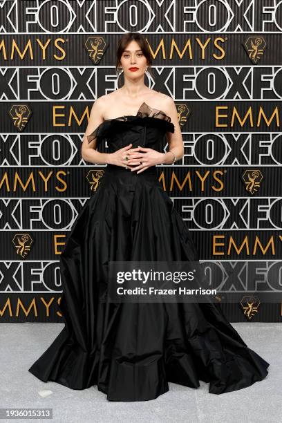
[[[7,0],[0,12],[0,321],[64,321],[59,254],[104,172],[82,160],[82,138],[95,99],[117,88],[129,31],[154,58],[145,83],[178,109],[185,155],[158,167],[160,184],[218,301],[230,321],[281,321],[282,2]],[[225,303],[232,291],[240,301]]]

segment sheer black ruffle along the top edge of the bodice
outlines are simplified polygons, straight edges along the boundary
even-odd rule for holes
[[[156,121],[156,119],[160,120],[160,122]],[[115,131],[116,125],[124,122],[126,122],[124,130],[128,129],[129,126],[140,123],[144,125],[156,124],[162,127],[164,131],[174,133],[174,125],[171,122],[170,116],[164,113],[164,111],[153,109],[143,102],[136,115],[119,116],[118,118],[106,119],[104,122],[100,123],[100,125],[98,125],[97,128],[87,136],[88,144],[89,142],[95,140],[95,138],[98,138],[99,141],[102,138],[106,138],[112,131]]]

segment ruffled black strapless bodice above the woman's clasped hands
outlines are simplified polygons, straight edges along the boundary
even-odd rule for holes
[[[130,143],[133,148],[140,145],[161,151],[166,132],[174,132],[171,118],[163,111],[153,109],[143,102],[136,115],[104,120],[87,136],[87,140],[89,143],[97,138],[97,147],[103,139],[109,141],[110,153]]]

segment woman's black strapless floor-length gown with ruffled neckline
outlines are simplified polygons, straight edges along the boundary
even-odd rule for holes
[[[146,103],[137,115],[105,120],[88,138],[109,152],[160,145],[171,119]],[[97,385],[110,401],[153,400],[168,382],[209,393],[236,391],[266,377],[269,364],[247,347],[217,303],[109,303],[109,261],[196,261],[191,234],[156,167],[141,173],[108,165],[77,217],[60,256],[65,326],[29,371],[72,389]]]

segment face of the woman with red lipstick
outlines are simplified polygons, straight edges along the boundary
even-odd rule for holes
[[[120,63],[124,70],[124,76],[130,78],[144,75],[147,67],[147,59],[136,41],[131,41],[126,46],[120,58]]]

